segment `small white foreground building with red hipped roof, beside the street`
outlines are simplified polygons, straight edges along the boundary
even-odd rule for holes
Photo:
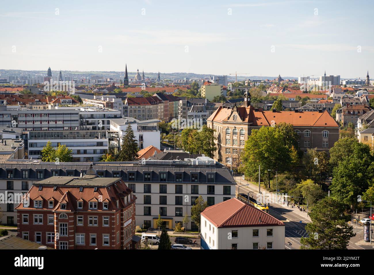
[[[237,198],[201,213],[202,249],[284,249],[285,224]]]

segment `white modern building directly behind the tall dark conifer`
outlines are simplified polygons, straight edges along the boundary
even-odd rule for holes
[[[138,120],[132,117],[110,119],[110,131],[119,133],[120,144],[122,144],[122,136],[127,126],[131,125],[140,150],[150,145],[160,149],[159,122],[161,122],[159,119]]]

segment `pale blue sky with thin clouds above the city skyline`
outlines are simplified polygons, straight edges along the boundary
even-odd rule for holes
[[[373,2],[6,1],[0,69],[365,78]]]

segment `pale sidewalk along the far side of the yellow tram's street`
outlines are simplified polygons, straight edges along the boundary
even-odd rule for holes
[[[258,183],[255,185],[253,183],[250,183],[249,181],[246,181],[246,180],[243,180],[243,179],[240,179],[241,177],[240,176],[237,176],[237,177],[234,177],[234,180],[236,181],[236,184],[237,186],[240,186],[240,185],[243,185],[243,184],[248,184],[248,186],[240,186],[239,189],[240,189],[240,193],[246,193],[246,192],[243,192],[244,190],[249,190],[249,191],[252,191],[255,194],[259,193],[258,191]],[[271,193],[271,192],[268,192],[266,189],[262,188],[261,187],[261,193],[263,196],[267,197],[269,194],[272,194],[274,196],[276,196],[276,193]],[[239,192],[238,192],[239,193]],[[310,219],[309,215],[307,217],[307,213],[306,212],[301,212],[296,206],[295,208],[291,208],[291,205],[287,206],[287,203],[283,205],[283,203],[278,203],[278,202],[270,202],[270,206],[276,206],[276,207],[279,207],[279,208],[283,208],[285,210],[288,210],[287,213],[293,213],[294,215],[297,215],[297,216],[300,216],[302,217],[303,219],[305,220],[308,220],[309,222],[311,222],[312,220]]]

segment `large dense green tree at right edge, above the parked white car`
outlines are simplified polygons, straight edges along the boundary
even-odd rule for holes
[[[374,183],[374,157],[364,143],[353,144],[353,152],[333,170],[330,186],[332,196],[355,208],[361,196]]]

